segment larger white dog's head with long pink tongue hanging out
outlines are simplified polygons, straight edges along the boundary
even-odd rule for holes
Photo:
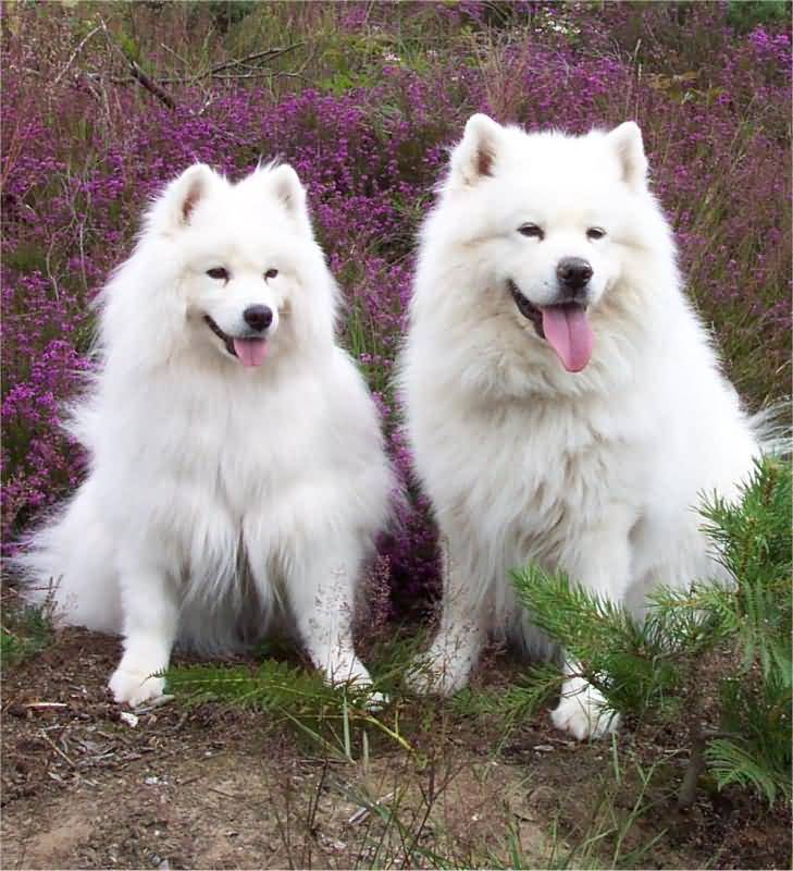
[[[587,365],[591,319],[642,245],[654,209],[646,172],[633,122],[566,136],[526,134],[475,114],[453,152],[439,211],[454,220],[442,232],[476,252],[470,259],[481,284],[568,371]]]

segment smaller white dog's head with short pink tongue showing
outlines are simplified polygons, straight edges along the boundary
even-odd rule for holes
[[[152,237],[150,259],[172,260],[161,266],[194,348],[256,368],[296,341],[332,341],[335,285],[292,167],[259,168],[236,184],[190,167],[149,212],[144,244]]]

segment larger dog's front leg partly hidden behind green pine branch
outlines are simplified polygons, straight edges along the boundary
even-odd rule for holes
[[[630,573],[630,523],[627,517],[624,523],[619,523],[622,514],[616,508],[608,528],[591,530],[577,538],[575,550],[568,554],[565,565],[571,581],[578,581],[614,602],[623,601]],[[559,706],[550,717],[557,728],[569,732],[579,740],[599,738],[617,729],[619,715],[604,708],[603,695],[581,676],[580,671],[573,658],[565,659],[568,678],[562,684]]]

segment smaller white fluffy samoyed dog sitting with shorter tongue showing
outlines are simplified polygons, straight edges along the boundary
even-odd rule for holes
[[[336,302],[288,165],[188,169],[102,293],[88,476],[18,563],[63,622],[123,635],[116,701],[162,692],[177,639],[230,648],[274,611],[330,680],[369,682],[351,618],[393,477]]]

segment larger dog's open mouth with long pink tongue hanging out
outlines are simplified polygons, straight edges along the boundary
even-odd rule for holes
[[[532,322],[536,334],[554,348],[568,372],[580,372],[590,361],[595,343],[586,306],[580,303],[535,306],[511,279],[509,292],[518,311]]]

